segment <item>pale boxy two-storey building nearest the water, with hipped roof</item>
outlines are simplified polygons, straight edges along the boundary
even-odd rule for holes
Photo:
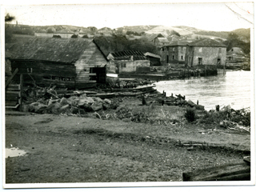
[[[191,42],[186,46],[186,65],[225,65],[226,46],[220,42],[205,38]]]

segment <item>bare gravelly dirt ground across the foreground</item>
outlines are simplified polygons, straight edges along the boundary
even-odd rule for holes
[[[166,106],[166,109],[174,106]],[[190,149],[183,142],[202,143]],[[177,182],[182,173],[241,162],[250,134],[214,126],[6,114],[6,183]]]

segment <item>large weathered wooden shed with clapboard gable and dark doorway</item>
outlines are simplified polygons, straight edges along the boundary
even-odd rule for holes
[[[25,84],[86,88],[105,82],[108,60],[88,38],[31,38],[8,46],[11,70]]]

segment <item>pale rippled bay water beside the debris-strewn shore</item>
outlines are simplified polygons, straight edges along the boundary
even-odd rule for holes
[[[189,78],[156,82],[156,89],[166,96],[172,93],[186,95],[186,100],[199,102],[206,110],[215,109],[216,105],[230,105],[234,110],[250,106],[250,84],[253,79],[250,71],[227,70],[226,75],[222,71],[218,76]],[[252,90],[253,91],[253,90]]]

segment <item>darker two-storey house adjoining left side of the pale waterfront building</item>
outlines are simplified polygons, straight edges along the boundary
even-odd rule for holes
[[[162,63],[185,63],[186,45],[188,42],[171,42],[167,46],[162,46],[160,53],[162,56]]]

